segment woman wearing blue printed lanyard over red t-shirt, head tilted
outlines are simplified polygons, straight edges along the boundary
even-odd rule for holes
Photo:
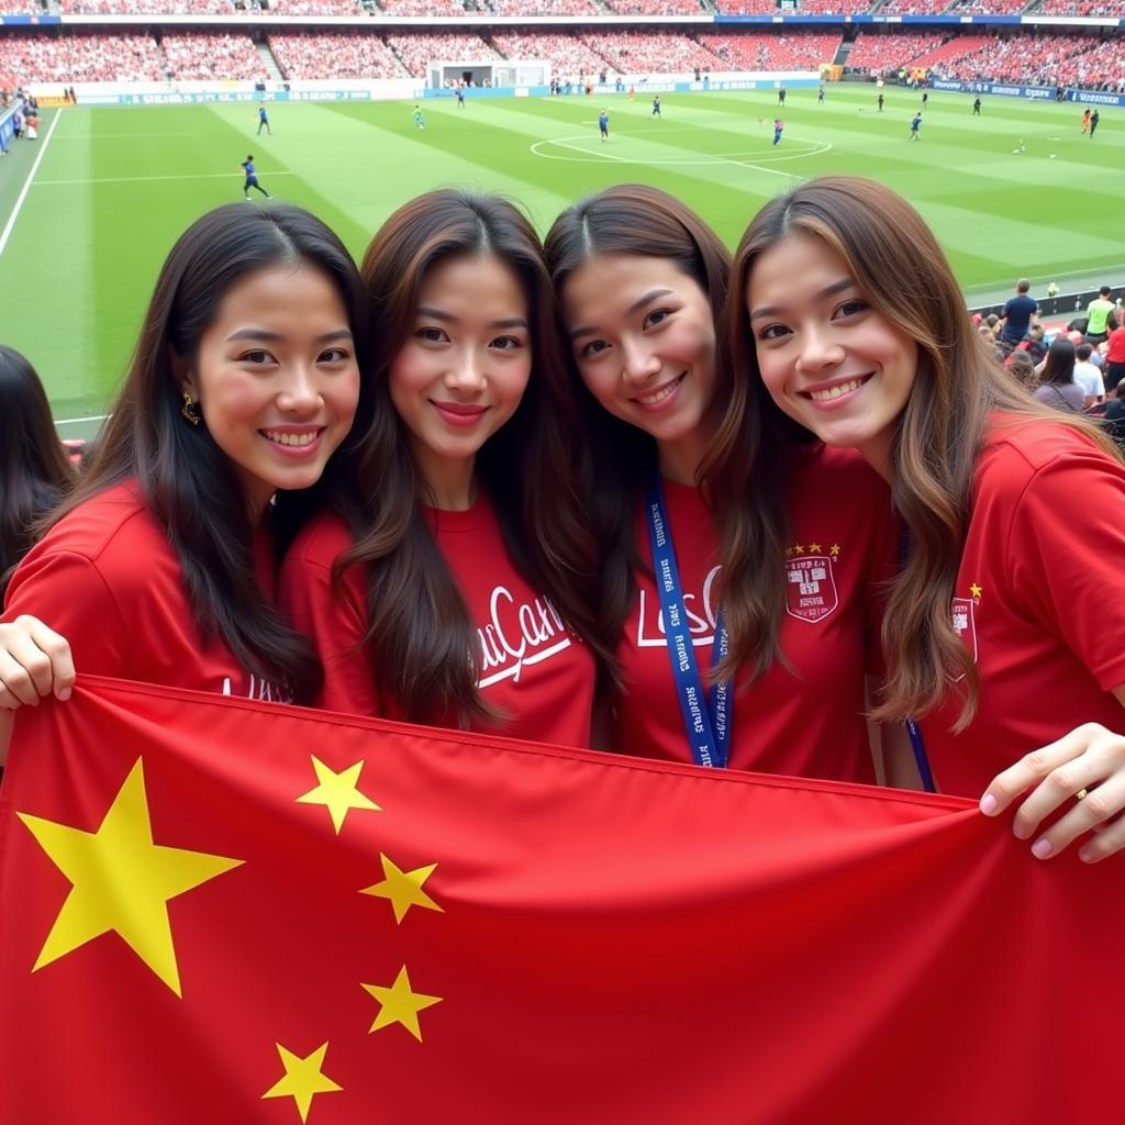
[[[864,669],[897,551],[885,486],[819,444],[788,443],[749,484],[720,456],[758,422],[745,374],[717,363],[729,254],[677,200],[609,188],[564,212],[546,251],[621,667],[609,745],[873,782]],[[778,514],[768,542],[748,519],[759,503]],[[748,592],[759,567],[764,597]]]

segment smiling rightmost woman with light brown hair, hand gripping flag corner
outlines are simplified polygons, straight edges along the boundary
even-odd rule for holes
[[[986,790],[986,813],[1033,789],[1015,832],[1037,857],[1096,826],[1080,858],[1119,849],[1125,620],[1106,591],[1125,468],[1109,442],[1012,386],[929,228],[881,184],[814,180],[767,204],[735,255],[731,314],[758,397],[858,450],[908,525],[876,714],[922,720],[942,788]]]

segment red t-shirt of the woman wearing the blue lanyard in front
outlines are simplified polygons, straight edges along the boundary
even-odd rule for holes
[[[712,664],[718,537],[695,488],[664,482],[672,542],[701,675]],[[864,719],[864,673],[879,672],[882,596],[898,564],[898,524],[886,484],[850,450],[818,447],[791,474],[786,605],[780,662],[735,696],[735,770],[874,784]],[[641,558],[651,560],[645,512]],[[613,745],[627,754],[691,762],[663,613],[652,579],[638,596],[618,655],[626,691]]]

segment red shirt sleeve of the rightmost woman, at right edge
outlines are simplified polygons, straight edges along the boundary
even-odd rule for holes
[[[1040,468],[1017,500],[1008,558],[1027,611],[1102,691],[1125,684],[1125,466],[1090,449]]]

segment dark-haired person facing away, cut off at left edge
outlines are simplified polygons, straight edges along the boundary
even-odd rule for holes
[[[74,484],[35,368],[0,344],[0,597],[32,546],[32,525]]]

